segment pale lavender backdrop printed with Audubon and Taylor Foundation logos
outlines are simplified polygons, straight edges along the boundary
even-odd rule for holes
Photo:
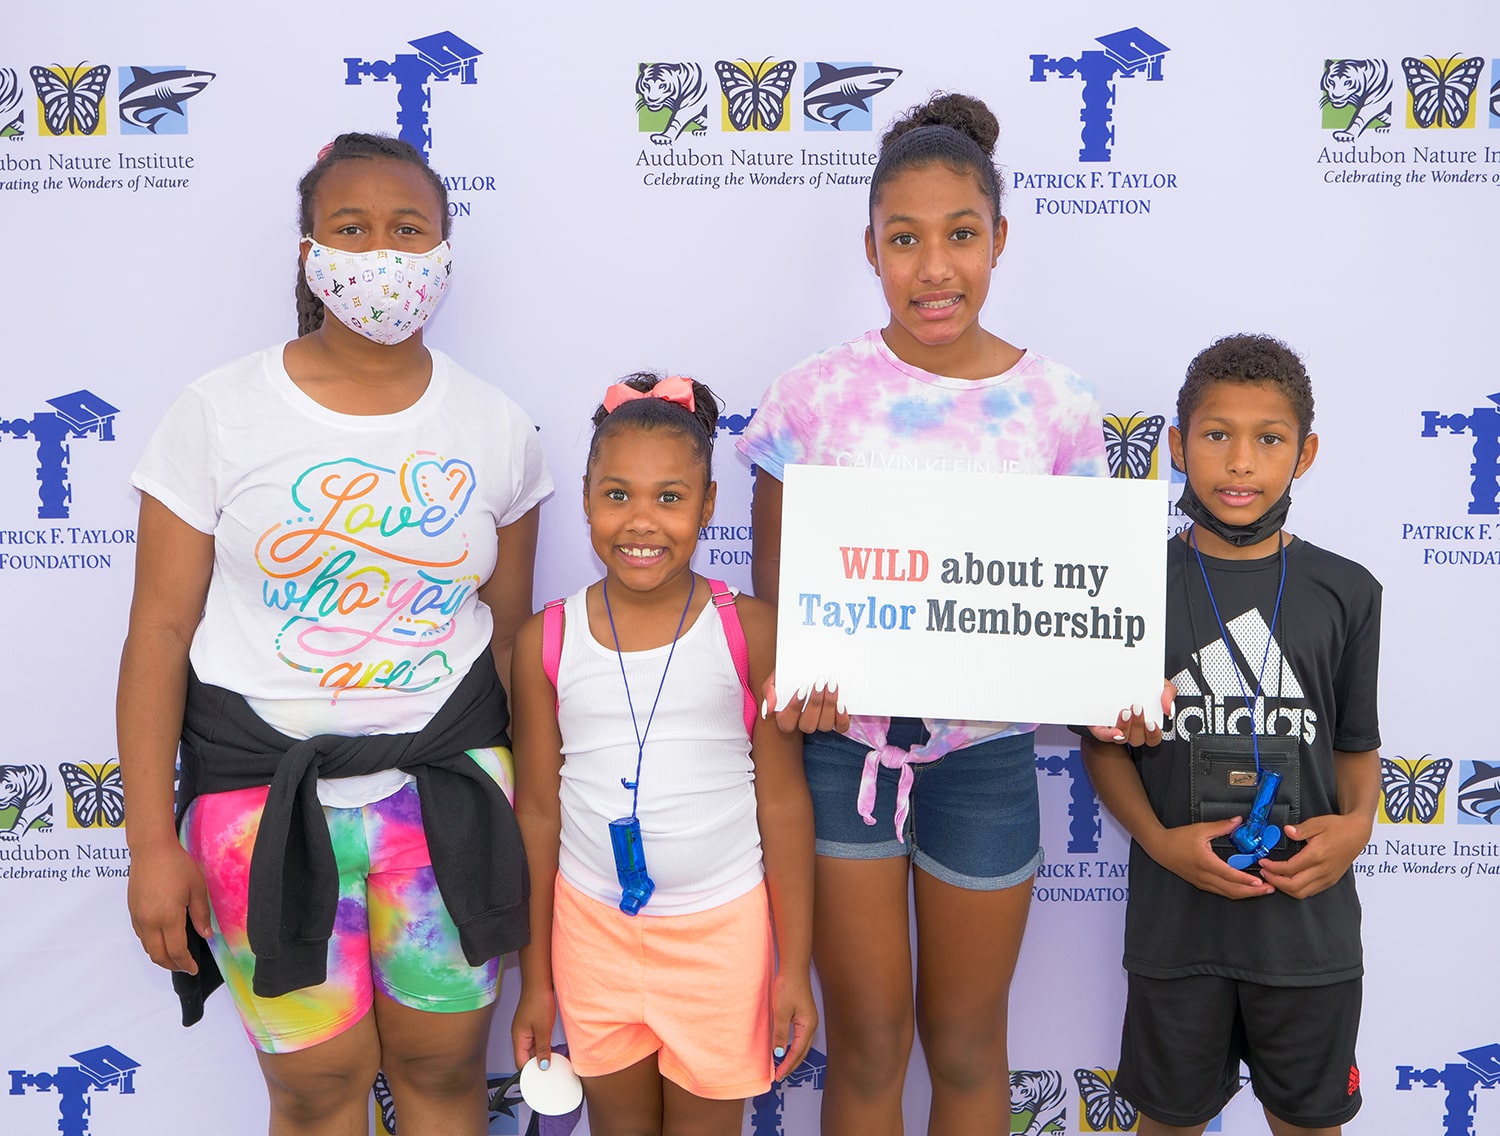
[[[879,131],[951,89],[1004,128],[1011,236],[986,323],[1098,384],[1119,476],[1176,477],[1164,428],[1214,336],[1266,330],[1305,353],[1323,449],[1292,528],[1386,590],[1352,1130],[1500,1133],[1494,5],[350,15],[90,0],[6,18],[0,1130],[266,1128],[228,999],[184,1031],[130,933],[112,698],[129,470],[184,383],[292,335],[294,183],[318,149],[342,129],[399,134],[447,180],[456,273],[430,342],[542,429],[561,488],[537,599],[597,573],[576,480],[586,419],[640,366],[724,396],[698,563],[748,584],[750,470],[732,440],[780,371],[884,321],[861,243]],[[1044,735],[1036,777],[1047,864],[1012,998],[1012,1131],[1128,1128],[1110,1092],[1126,842],[1066,734]],[[494,1133],[528,1122],[508,1086],[514,990],[510,969]],[[816,1130],[820,1053],[819,1035],[746,1131]],[[914,1131],[926,1100],[916,1056]],[[1248,1092],[1214,1130],[1263,1131]]]

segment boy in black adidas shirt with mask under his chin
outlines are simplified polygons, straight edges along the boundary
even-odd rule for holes
[[[1194,524],[1167,549],[1174,711],[1156,746],[1083,737],[1100,800],[1132,837],[1116,1085],[1142,1133],[1200,1133],[1244,1061],[1276,1136],[1338,1133],[1360,1103],[1350,864],[1380,792],[1380,584],[1281,530],[1317,455],[1312,392],[1286,344],[1202,351],[1178,422]],[[1280,828],[1280,842],[1232,867],[1227,837],[1270,771],[1282,783],[1264,840]]]

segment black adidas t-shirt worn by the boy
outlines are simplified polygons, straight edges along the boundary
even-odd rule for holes
[[[1293,539],[1286,551],[1281,615],[1268,651],[1281,555],[1203,557],[1228,632],[1226,647],[1197,554],[1185,540],[1168,542],[1167,677],[1178,687],[1176,717],[1160,746],[1136,756],[1146,795],[1168,827],[1191,821],[1191,735],[1204,728],[1244,731],[1240,680],[1254,698],[1262,666],[1257,732],[1300,735],[1302,819],[1338,812],[1334,750],[1380,747],[1380,584],[1354,561],[1305,540]],[[1356,978],[1364,956],[1354,873],[1310,899],[1276,891],[1233,900],[1200,891],[1131,843],[1125,969],[1150,978],[1216,974],[1268,986]]]

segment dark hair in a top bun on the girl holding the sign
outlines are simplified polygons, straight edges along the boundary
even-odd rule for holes
[[[880,159],[870,176],[872,219],[882,185],[906,170],[942,162],[956,174],[974,174],[998,225],[1005,195],[994,168],[999,137],[1000,125],[994,114],[969,95],[939,92],[921,107],[912,107],[880,138]]]

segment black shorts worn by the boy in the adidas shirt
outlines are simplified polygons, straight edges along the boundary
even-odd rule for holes
[[[1155,1121],[1204,1124],[1239,1091],[1239,1064],[1260,1103],[1304,1128],[1359,1112],[1362,981],[1260,986],[1190,975],[1128,975],[1120,1094]]]

